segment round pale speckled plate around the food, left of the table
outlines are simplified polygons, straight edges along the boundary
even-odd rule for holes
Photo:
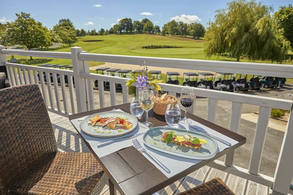
[[[88,124],[87,121],[95,116],[99,115],[100,117],[121,117],[121,118],[128,118],[128,122],[132,123],[132,128],[130,129],[119,129],[119,127],[115,127],[114,130],[103,130],[101,126],[91,126],[91,124]],[[96,113],[93,115],[90,115],[86,117],[84,120],[82,120],[79,124],[80,129],[85,134],[88,134],[93,137],[102,137],[102,138],[109,138],[109,137],[118,137],[125,134],[128,134],[132,132],[138,124],[137,118],[129,113],[126,112],[120,112],[120,111],[108,111],[108,112],[101,112]]]

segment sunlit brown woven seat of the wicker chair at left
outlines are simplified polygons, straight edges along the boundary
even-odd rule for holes
[[[11,194],[90,194],[100,193],[107,175],[91,153],[58,152],[47,163],[24,177]]]

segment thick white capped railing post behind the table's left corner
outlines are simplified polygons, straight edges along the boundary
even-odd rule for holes
[[[78,59],[79,53],[81,53],[81,47],[71,47],[71,59],[78,113],[86,111],[86,85],[84,78],[79,77],[79,73],[84,72],[84,64],[82,60]]]

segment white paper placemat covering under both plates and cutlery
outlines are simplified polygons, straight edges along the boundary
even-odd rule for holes
[[[116,111],[122,111],[120,109],[117,109]],[[124,111],[122,111],[124,112]],[[86,117],[86,116],[85,116]],[[85,117],[81,117],[81,118],[85,118]],[[79,123],[81,121],[77,121],[79,118],[71,120],[72,124],[75,126],[75,128],[79,131],[79,133],[81,134],[82,137],[84,137],[84,139],[89,143],[89,145],[91,146],[91,148],[93,149],[93,151],[97,154],[97,156],[99,158],[106,156],[110,153],[116,152],[120,149],[123,148],[127,148],[129,146],[133,146],[133,139],[137,139],[144,148],[147,149],[147,151],[149,151],[149,153],[151,153],[155,158],[157,158],[161,163],[163,163],[166,167],[168,167],[168,169],[171,170],[170,173],[165,172],[159,165],[157,165],[151,158],[149,158],[149,156],[147,156],[147,154],[142,153],[151,163],[153,163],[159,170],[161,170],[161,172],[163,172],[168,178],[172,177],[173,175],[176,175],[182,171],[184,171],[185,169],[200,163],[202,160],[193,160],[193,159],[188,159],[188,158],[182,158],[182,157],[178,157],[178,156],[173,156],[171,154],[166,154],[160,151],[156,151],[154,149],[151,149],[147,146],[145,146],[143,144],[143,134],[132,138],[132,139],[127,139],[127,140],[121,140],[121,141],[117,141],[115,143],[112,144],[108,144],[102,147],[97,147],[97,144],[105,142],[105,141],[110,141],[110,140],[114,140],[114,139],[118,139],[118,138],[122,138],[121,137],[113,137],[113,138],[96,138],[96,137],[91,137],[88,136],[86,134],[84,134],[81,129],[79,128]],[[146,132],[148,130],[148,128],[142,128],[140,127],[141,122],[138,123],[138,126],[136,127],[136,129],[134,131],[132,131],[131,133],[123,136],[123,137],[127,137],[130,135],[134,135],[140,132]],[[238,141],[235,141],[234,139],[231,139],[215,130],[212,130],[209,127],[206,127],[205,125],[200,124],[199,122],[196,121],[192,121],[191,125],[194,125],[195,127],[197,127],[198,129],[204,129],[206,132],[208,132],[209,134],[212,134],[216,137],[219,137],[221,139],[224,139],[225,141],[228,141],[233,145],[237,144]],[[188,127],[185,124],[179,124],[179,127],[181,129],[186,129],[188,131],[195,131],[193,130],[191,127]],[[197,132],[197,131],[195,131]],[[217,141],[217,140],[216,140]],[[217,153],[223,151],[224,149],[228,148],[229,146],[227,146],[226,144],[223,144],[220,141],[217,141],[218,144],[218,151]]]

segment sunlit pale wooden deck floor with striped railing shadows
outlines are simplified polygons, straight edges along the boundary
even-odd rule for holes
[[[69,122],[68,118],[51,112],[48,113],[55,132],[58,150],[60,152],[90,152],[86,144],[82,141],[74,127]],[[267,195],[271,193],[269,187],[205,166],[164,189],[161,189],[160,194],[178,194],[198,186],[203,182],[212,180],[215,177],[221,178],[237,195]],[[101,194],[109,194],[108,185],[104,187]],[[117,194],[119,193],[117,192]]]

